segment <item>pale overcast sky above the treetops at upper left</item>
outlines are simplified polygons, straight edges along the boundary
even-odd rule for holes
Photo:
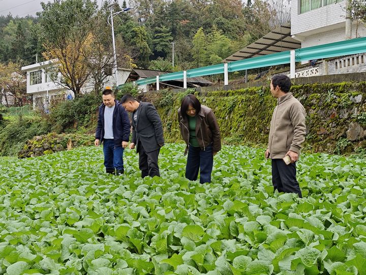
[[[42,11],[41,2],[53,2],[53,0],[0,0],[0,15],[7,15],[9,13],[13,16],[18,15],[19,17],[24,17],[27,14],[36,15],[37,12]],[[102,2],[103,0],[97,0],[99,6]],[[123,0],[119,0],[118,2],[122,4]]]

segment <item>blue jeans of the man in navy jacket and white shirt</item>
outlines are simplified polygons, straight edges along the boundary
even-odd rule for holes
[[[107,171],[124,170],[123,152],[122,145],[115,145],[114,140],[103,140],[104,166]]]

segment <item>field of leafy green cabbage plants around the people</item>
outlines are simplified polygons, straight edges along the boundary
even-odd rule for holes
[[[161,178],[105,174],[101,148],[0,158],[0,273],[366,274],[366,161],[303,154],[303,199],[273,194],[264,150],[223,147],[212,183],[184,178],[184,146]]]

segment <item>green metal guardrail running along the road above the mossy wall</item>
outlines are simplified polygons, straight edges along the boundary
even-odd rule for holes
[[[328,43],[313,47],[295,49],[295,60],[308,61],[321,58],[346,56],[366,52],[366,37],[354,38],[340,42]],[[291,63],[290,50],[278,53],[267,54],[266,56],[243,59],[228,63],[228,72],[242,71],[254,68],[269,67]],[[295,66],[295,64],[291,64]],[[224,73],[224,64],[217,64],[201,68],[187,70],[187,78]],[[159,81],[183,79],[184,71],[159,75]],[[148,77],[136,81],[137,85],[155,83],[156,77]]]

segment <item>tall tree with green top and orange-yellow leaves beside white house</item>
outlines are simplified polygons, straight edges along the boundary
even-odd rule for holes
[[[54,0],[41,3],[39,13],[41,35],[47,60],[57,60],[58,83],[79,96],[90,71],[85,64],[85,52],[90,51],[94,42],[92,29],[97,13],[97,3],[93,0]],[[56,18],[56,19],[55,19]]]

